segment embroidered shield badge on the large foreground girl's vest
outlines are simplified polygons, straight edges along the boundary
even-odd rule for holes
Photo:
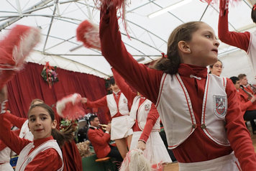
[[[227,97],[214,95],[214,114],[218,117],[224,117],[227,114]]]

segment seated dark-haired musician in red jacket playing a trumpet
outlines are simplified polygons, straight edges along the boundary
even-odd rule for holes
[[[122,162],[122,156],[116,147],[109,145],[111,125],[106,126],[106,132],[99,128],[99,118],[91,115],[89,118],[88,139],[93,145],[94,151],[98,158],[114,157],[117,161]]]

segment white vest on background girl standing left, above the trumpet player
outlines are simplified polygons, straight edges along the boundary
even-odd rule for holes
[[[128,101],[123,93],[120,95],[118,108],[116,106],[116,100],[114,99],[113,93],[106,96],[106,102],[108,104],[111,117],[113,117],[118,111],[122,115],[129,115]]]

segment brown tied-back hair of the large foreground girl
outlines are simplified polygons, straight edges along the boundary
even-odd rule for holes
[[[163,70],[165,73],[178,73],[178,67],[181,63],[180,55],[178,54],[178,42],[189,42],[192,38],[193,32],[199,28],[199,24],[203,22],[187,22],[176,27],[170,34],[168,39],[167,57],[163,57],[155,63],[154,68]]]

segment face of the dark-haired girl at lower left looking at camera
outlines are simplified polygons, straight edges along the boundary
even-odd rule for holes
[[[52,129],[56,128],[57,121],[52,121],[50,114],[45,108],[37,106],[29,112],[29,130],[34,139],[50,137]]]

